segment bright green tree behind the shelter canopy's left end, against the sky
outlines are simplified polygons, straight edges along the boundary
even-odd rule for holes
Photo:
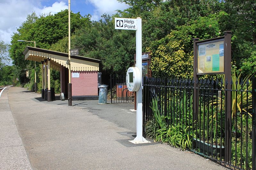
[[[82,17],[80,13],[71,13],[71,34],[75,32],[77,28],[90,25],[90,16]],[[34,62],[24,59],[23,50],[25,47],[33,46],[32,43],[17,42],[17,40],[29,40],[36,41],[36,47],[49,49],[50,46],[64,37],[68,36],[68,10],[58,12],[55,15],[41,15],[36,16],[36,13],[27,16],[27,20],[17,29],[17,32],[13,34],[11,47],[9,50],[10,57],[13,60],[13,64],[20,70],[20,81],[24,83],[27,81],[24,69],[28,68],[31,72],[34,68]],[[36,63],[37,67],[40,63]],[[38,69],[39,72],[40,69]],[[37,72],[37,73],[38,73]],[[34,78],[33,78],[34,79]],[[32,81],[32,79],[31,79]]]

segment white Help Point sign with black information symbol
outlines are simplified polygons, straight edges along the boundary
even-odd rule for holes
[[[137,19],[115,18],[115,29],[118,30],[137,30]]]

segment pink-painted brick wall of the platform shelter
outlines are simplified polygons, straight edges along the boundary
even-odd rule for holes
[[[72,77],[72,73],[79,73],[79,77]],[[72,96],[97,96],[98,71],[72,71]]]

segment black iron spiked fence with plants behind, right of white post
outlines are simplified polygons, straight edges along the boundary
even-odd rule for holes
[[[144,82],[144,124],[154,119],[151,102],[158,100],[168,128],[191,137],[191,151],[237,169],[255,169],[255,78],[195,82],[144,77]]]

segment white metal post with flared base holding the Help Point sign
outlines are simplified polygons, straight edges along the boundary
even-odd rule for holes
[[[142,25],[141,25],[141,18],[137,18],[137,30],[136,30],[136,67],[140,69],[140,75],[142,77]],[[142,83],[142,82],[141,82]],[[150,143],[142,136],[142,124],[143,124],[143,114],[142,114],[142,84],[140,84],[139,91],[136,92],[136,105],[137,105],[137,112],[136,112],[136,129],[137,129],[137,136],[133,139],[132,143],[139,144],[139,143]]]

